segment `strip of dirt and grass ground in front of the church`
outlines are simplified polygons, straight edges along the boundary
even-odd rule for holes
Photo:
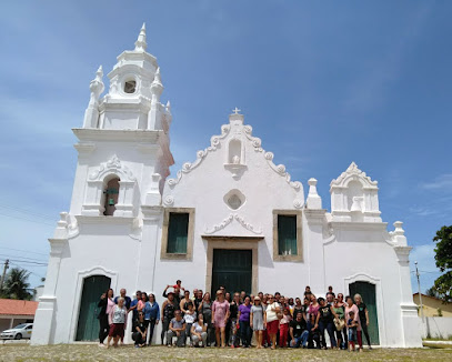
[[[362,353],[302,349],[194,349],[131,345],[106,350],[94,344],[0,345],[0,361],[452,361],[452,349],[374,349]]]

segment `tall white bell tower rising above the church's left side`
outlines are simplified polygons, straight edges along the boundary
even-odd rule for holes
[[[71,215],[137,217],[147,198],[159,202],[169,168],[170,102],[161,103],[163,84],[157,58],[147,52],[143,24],[133,50],[123,51],[108,74],[100,67],[90,82],[83,127],[73,129],[79,162]],[[151,198],[147,197],[152,193]]]

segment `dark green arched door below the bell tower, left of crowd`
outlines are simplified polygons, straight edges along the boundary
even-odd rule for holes
[[[99,299],[109,288],[110,278],[92,275],[83,280],[76,341],[96,341],[99,338]]]

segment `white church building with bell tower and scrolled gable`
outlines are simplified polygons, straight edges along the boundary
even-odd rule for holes
[[[181,279],[189,290],[213,292],[360,292],[374,344],[422,345],[402,222],[388,231],[378,183],[354,162],[331,181],[328,211],[317,180],[305,195],[235,109],[170,178],[171,108],[144,26],[101,97],[102,77],[99,68],[83,127],[73,129],[72,200],[49,239],[32,344],[96,341],[97,303],[108,288],[153,292],[161,305],[163,289]]]

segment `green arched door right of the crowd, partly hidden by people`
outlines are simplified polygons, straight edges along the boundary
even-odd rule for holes
[[[369,282],[354,282],[349,285],[350,295],[361,294],[363,302],[368,306],[369,311],[369,336],[372,344],[380,344],[379,335],[379,319],[376,315],[376,295],[375,295],[375,284]],[[365,338],[363,338],[363,343],[365,343]]]

